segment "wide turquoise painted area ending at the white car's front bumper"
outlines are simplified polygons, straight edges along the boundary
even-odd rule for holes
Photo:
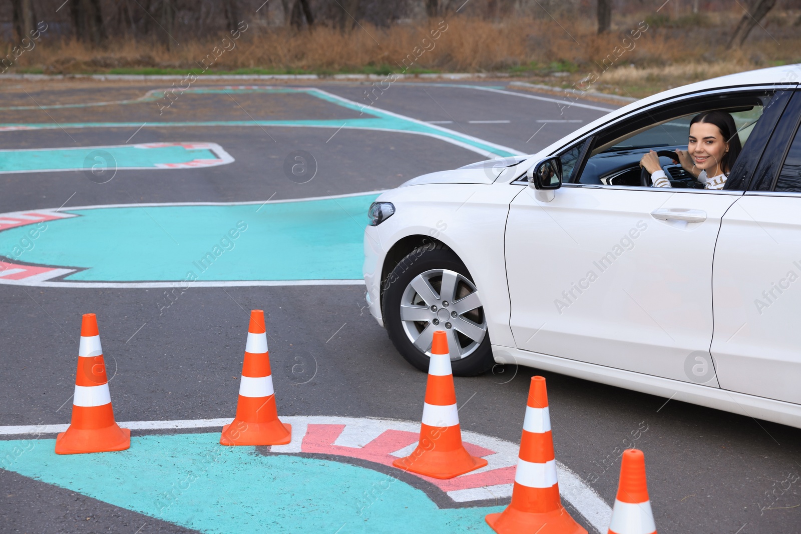
[[[24,255],[30,226],[0,231],[0,255],[80,269],[66,281],[358,280],[377,196],[62,210]]]

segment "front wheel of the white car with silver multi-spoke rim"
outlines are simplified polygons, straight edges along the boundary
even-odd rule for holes
[[[384,280],[382,311],[389,339],[409,363],[428,371],[434,331],[445,331],[453,374],[493,366],[481,296],[467,267],[448,247],[417,247]]]

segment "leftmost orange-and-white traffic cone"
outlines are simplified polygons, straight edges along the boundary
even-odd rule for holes
[[[72,421],[55,439],[56,454],[124,451],[131,447],[131,431],[119,428],[111,408],[106,363],[100,347],[94,313],[83,314],[78,371],[72,398]]]

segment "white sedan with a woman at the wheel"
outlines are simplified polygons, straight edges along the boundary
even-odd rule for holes
[[[667,90],[535,155],[384,192],[370,312],[421,370],[443,330],[457,375],[517,363],[801,428],[799,78]],[[743,145],[720,191],[672,161],[705,110]],[[672,187],[641,172],[651,149]]]

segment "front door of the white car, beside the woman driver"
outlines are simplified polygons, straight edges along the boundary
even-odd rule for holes
[[[715,98],[723,108],[744,102]],[[763,109],[772,102],[758,98]],[[689,116],[708,105],[703,98],[670,102],[630,126],[614,127],[637,132],[648,118],[680,126],[678,118],[667,120],[671,113]],[[676,131],[662,126],[662,134],[650,129],[640,137],[655,146],[684,143],[686,149],[687,129],[678,141]],[[761,136],[751,141],[760,126],[761,119],[748,126],[743,161],[763,146]],[[614,135],[602,130],[586,143]],[[591,154],[579,144],[570,150]],[[564,153],[568,160],[570,150]],[[636,164],[642,153],[632,151]],[[630,152],[615,155],[629,158]],[[608,154],[584,155],[572,171],[573,183],[552,201],[537,200],[528,188],[511,203],[505,251],[515,343],[526,351],[717,387],[710,357],[714,246],[723,215],[743,191],[604,185],[593,173],[608,163],[602,160]],[[735,164],[731,177],[742,172]]]

